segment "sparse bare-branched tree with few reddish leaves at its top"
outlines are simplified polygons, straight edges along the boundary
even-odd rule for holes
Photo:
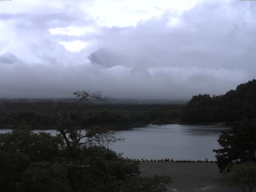
[[[114,131],[100,128],[99,126],[92,126],[91,128],[86,129],[84,133],[82,133],[80,126],[70,127],[70,118],[79,104],[106,102],[108,99],[108,97],[102,96],[102,92],[96,90],[93,93],[90,93],[89,90],[78,90],[74,92],[73,95],[76,96],[76,102],[67,114],[63,115],[58,111],[55,116],[49,114],[46,115],[56,122],[57,132],[59,132],[59,135],[64,139],[67,148],[72,151],[74,151],[74,148],[81,145],[98,145],[101,148],[103,146],[108,148],[110,142],[123,140],[118,138]]]

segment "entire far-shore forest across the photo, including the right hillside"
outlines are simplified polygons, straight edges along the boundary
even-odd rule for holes
[[[46,115],[66,113],[73,100],[26,102],[0,101],[0,128],[52,128],[54,121]],[[71,116],[73,126],[100,125],[129,128],[144,124],[231,123],[256,116],[256,80],[240,84],[224,95],[199,94],[184,104],[86,104]]]

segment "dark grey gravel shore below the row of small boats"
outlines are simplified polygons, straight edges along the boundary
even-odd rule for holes
[[[142,176],[168,175],[168,192],[241,192],[224,185],[216,163],[140,162]]]

